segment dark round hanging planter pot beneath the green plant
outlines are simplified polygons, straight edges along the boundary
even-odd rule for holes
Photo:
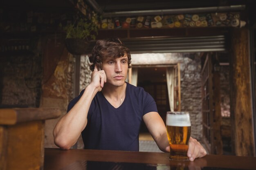
[[[67,51],[73,55],[83,55],[86,54],[86,49],[90,45],[90,42],[79,38],[66,38],[65,45]]]

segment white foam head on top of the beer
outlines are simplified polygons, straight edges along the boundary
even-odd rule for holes
[[[167,126],[191,126],[188,112],[173,112],[166,115]]]

